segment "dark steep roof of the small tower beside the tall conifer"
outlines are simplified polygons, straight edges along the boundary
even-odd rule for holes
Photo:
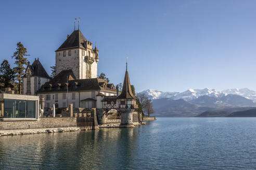
[[[39,76],[44,78],[50,78],[50,76],[47,74],[46,70],[44,69],[43,65],[39,61],[39,59],[35,59],[35,61],[32,63],[32,65],[28,64],[27,69],[30,69],[31,76]],[[27,72],[26,69],[26,72]]]

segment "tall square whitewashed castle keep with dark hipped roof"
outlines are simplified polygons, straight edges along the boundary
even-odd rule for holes
[[[72,69],[76,79],[97,78],[98,49],[80,30],[67,36],[56,52],[56,75]]]

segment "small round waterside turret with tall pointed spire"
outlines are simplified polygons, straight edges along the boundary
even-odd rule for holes
[[[130,84],[130,78],[127,71],[123,81],[123,89],[121,94],[117,97],[117,107],[118,111],[121,113],[121,124],[120,127],[134,127],[133,124],[133,112],[138,106],[136,105],[137,97],[132,93],[132,88]]]

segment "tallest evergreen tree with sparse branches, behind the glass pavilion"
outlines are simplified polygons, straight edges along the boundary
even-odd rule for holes
[[[15,59],[15,64],[17,65],[14,67],[14,73],[15,80],[18,81],[19,94],[21,94],[21,77],[25,74],[24,65],[28,64],[28,60],[25,58],[25,56],[29,56],[29,54],[27,54],[27,49],[21,44],[21,42],[17,43],[16,51],[14,52],[14,55],[11,56],[11,58]]]

